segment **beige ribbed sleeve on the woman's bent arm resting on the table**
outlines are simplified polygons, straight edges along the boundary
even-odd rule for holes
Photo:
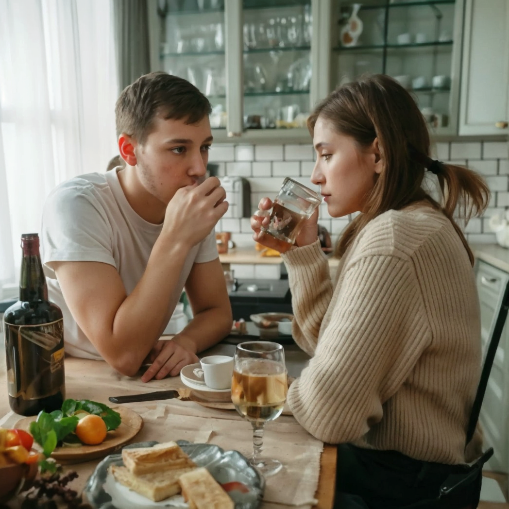
[[[410,261],[372,255],[344,271],[315,356],[288,392],[296,419],[329,443],[359,439],[379,422],[431,342]]]

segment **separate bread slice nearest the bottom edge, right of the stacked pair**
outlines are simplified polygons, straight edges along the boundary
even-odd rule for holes
[[[182,474],[179,484],[190,509],[234,509],[233,500],[204,467]]]

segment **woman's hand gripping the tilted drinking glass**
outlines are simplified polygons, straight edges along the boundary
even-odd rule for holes
[[[262,198],[258,204],[258,210],[251,216],[251,229],[254,232],[253,239],[256,242],[281,253],[295,249],[295,247],[302,247],[316,242],[318,238],[318,208],[309,219],[305,220],[302,230],[297,235],[295,244],[290,244],[272,235],[268,235],[262,230],[262,227],[267,227],[270,223],[272,206],[273,202],[270,198]]]

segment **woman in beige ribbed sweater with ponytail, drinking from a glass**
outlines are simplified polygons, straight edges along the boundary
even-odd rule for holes
[[[318,212],[293,246],[261,230],[263,212],[251,218],[254,240],[282,253],[293,336],[312,356],[288,403],[309,433],[342,444],[338,507],[475,503],[478,487],[466,500],[422,505],[472,459],[465,437],[480,374],[479,304],[473,255],[453,214],[482,213],[489,190],[469,169],[429,157],[422,115],[388,76],[338,88],[308,127],[311,180],[329,214],[360,214],[336,247],[335,280],[317,240]],[[439,199],[425,190],[427,173]],[[259,208],[271,206],[265,198]]]

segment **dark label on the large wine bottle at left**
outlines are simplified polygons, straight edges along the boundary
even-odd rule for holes
[[[64,320],[37,325],[4,321],[7,388],[12,398],[35,400],[61,391],[64,374]]]

